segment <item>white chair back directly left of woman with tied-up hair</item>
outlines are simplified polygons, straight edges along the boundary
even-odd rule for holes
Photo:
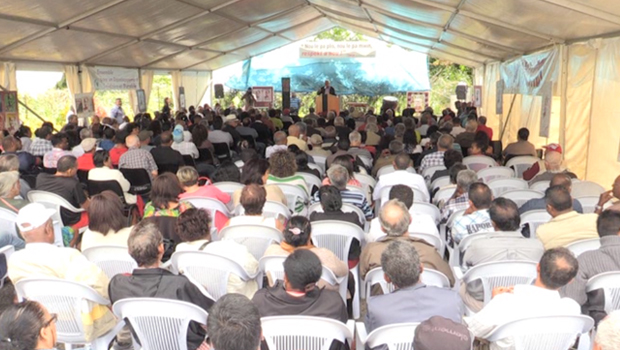
[[[259,260],[267,248],[282,241],[282,233],[277,229],[263,225],[234,225],[222,229],[222,240],[232,240],[244,245]]]

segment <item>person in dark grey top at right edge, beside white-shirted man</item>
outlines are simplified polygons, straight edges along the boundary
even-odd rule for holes
[[[588,280],[598,274],[620,271],[620,213],[604,211],[596,221],[601,247],[579,255],[579,271],[573,283],[562,288],[563,296],[574,299],[581,305],[584,314],[598,323],[606,315],[603,290],[586,293]]]

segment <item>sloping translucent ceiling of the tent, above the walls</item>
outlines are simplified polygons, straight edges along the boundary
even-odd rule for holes
[[[213,70],[334,26],[478,66],[620,35],[617,0],[2,0],[0,61]]]

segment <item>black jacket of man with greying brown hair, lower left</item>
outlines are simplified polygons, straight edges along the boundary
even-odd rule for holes
[[[116,275],[108,286],[110,301],[127,298],[162,298],[192,303],[205,311],[213,306],[213,300],[200,292],[187,277],[175,275],[164,269],[134,269],[131,275]],[[207,320],[204,322],[207,323]],[[190,322],[187,332],[187,349],[197,349],[207,332],[196,322]]]

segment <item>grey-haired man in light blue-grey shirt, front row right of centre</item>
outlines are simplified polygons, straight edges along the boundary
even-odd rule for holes
[[[368,332],[396,323],[422,322],[433,316],[461,322],[463,302],[449,288],[427,286],[420,280],[425,264],[415,247],[393,241],[381,252],[381,267],[387,283],[394,285],[389,294],[368,298]]]

